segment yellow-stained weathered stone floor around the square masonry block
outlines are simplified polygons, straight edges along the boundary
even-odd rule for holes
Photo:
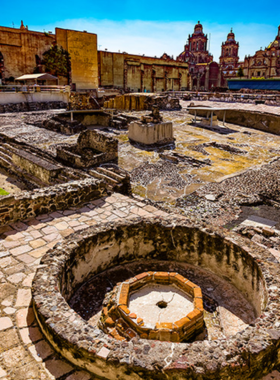
[[[208,103],[214,106],[213,102]],[[139,117],[145,113],[128,114]],[[177,198],[207,183],[263,165],[280,155],[280,136],[229,123],[226,123],[228,132],[219,133],[192,124],[193,116],[185,109],[163,111],[161,115],[164,121],[173,122],[175,144],[142,147],[131,144],[126,131],[118,136],[119,165],[130,172],[133,191],[153,201],[174,204]],[[174,153],[186,158],[179,162],[168,159]]]

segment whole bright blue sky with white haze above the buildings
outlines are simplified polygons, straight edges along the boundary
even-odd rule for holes
[[[12,5],[11,5],[12,4]],[[198,20],[211,33],[210,51],[218,60],[221,43],[233,27],[239,41],[239,57],[267,46],[280,24],[280,2],[253,3],[216,0],[151,1],[61,0],[55,3],[7,1],[1,4],[0,25],[54,31],[56,26],[98,34],[101,49],[160,56],[179,55]]]

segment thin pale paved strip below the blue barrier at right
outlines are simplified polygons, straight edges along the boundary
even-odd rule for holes
[[[209,100],[191,100],[180,102],[183,108],[186,108],[190,105],[190,103],[194,103],[196,106],[208,106],[208,107],[221,107],[221,108],[229,108],[229,109],[238,109],[238,110],[248,110],[248,111],[258,111],[258,112],[268,112],[273,113],[275,115],[280,115],[280,107],[277,106],[268,106],[266,104],[250,104],[250,103],[230,103],[230,102],[218,102],[218,101],[209,101]]]

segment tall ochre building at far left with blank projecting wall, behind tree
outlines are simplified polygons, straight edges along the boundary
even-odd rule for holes
[[[0,27],[0,82],[13,83],[23,74],[43,70],[44,53],[58,45],[70,53],[71,80],[77,89],[98,87],[97,35],[56,28],[56,33],[31,31],[21,27]],[[67,84],[67,77],[60,77]]]

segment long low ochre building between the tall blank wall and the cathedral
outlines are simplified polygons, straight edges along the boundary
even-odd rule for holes
[[[99,86],[134,92],[188,89],[188,64],[166,53],[161,58],[128,53],[98,52]]]

